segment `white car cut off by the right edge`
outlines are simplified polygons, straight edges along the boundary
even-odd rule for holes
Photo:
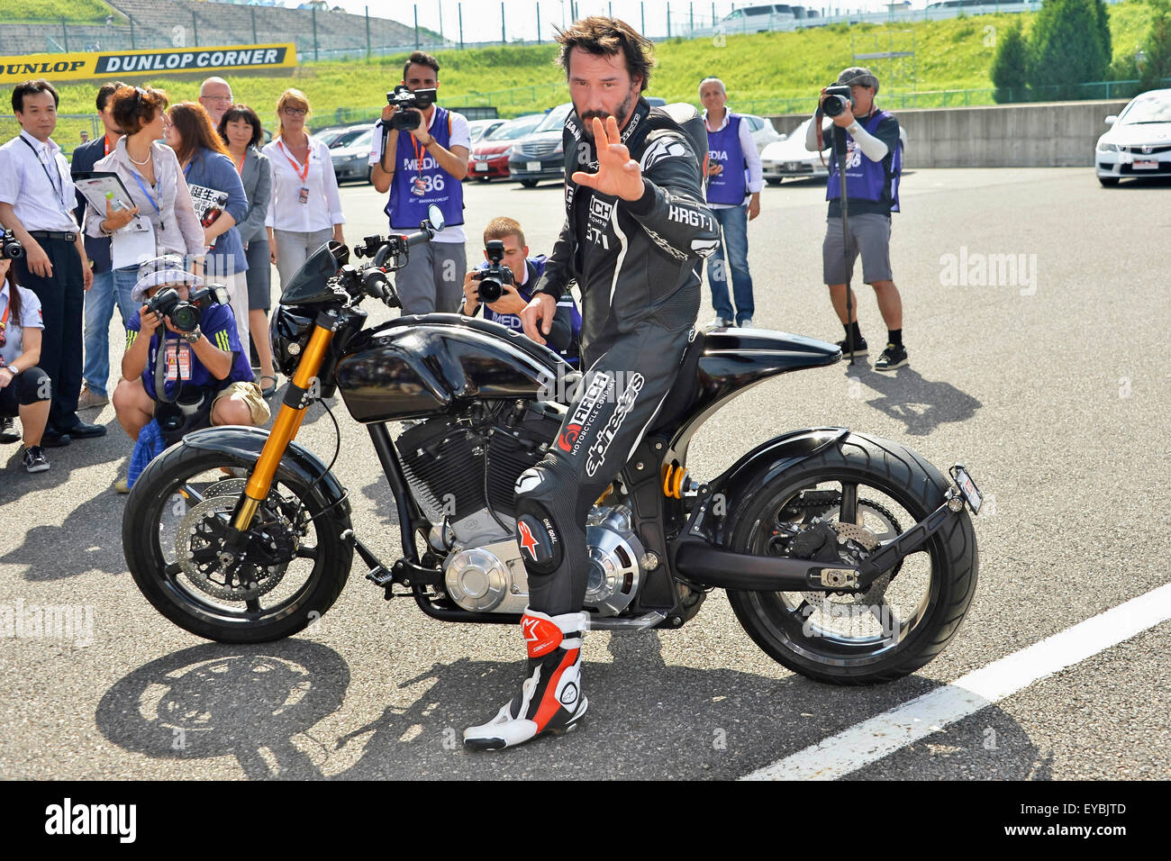
[[[1130,100],[1094,148],[1094,170],[1104,186],[1119,179],[1171,175],[1171,89]]]

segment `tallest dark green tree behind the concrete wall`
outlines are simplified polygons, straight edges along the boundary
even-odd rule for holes
[[[1110,57],[1097,0],[1046,0],[1033,23],[1028,82],[1042,98],[1076,98],[1075,84],[1105,78]]]

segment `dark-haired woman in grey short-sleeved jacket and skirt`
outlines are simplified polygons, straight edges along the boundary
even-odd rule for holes
[[[260,388],[265,397],[276,391],[276,375],[273,370],[273,350],[268,343],[268,308],[272,306],[272,264],[268,232],[265,218],[272,197],[272,168],[268,158],[256,146],[263,137],[260,117],[246,104],[233,104],[220,117],[219,135],[227,145],[228,157],[235,165],[244,192],[248,197],[248,211],[235,226],[244,242],[248,259],[248,328],[260,360]]]

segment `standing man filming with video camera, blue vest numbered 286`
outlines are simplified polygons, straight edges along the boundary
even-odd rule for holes
[[[472,137],[467,119],[440,108],[439,61],[420,50],[403,66],[403,82],[386,94],[375,127],[370,164],[379,192],[390,191],[390,228],[409,233],[434,204],[446,225],[434,239],[411,251],[395,275],[403,314],[454,312],[460,303],[459,274],[467,269],[464,244],[464,186]]]

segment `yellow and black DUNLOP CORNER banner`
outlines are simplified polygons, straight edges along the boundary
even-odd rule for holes
[[[49,81],[84,81],[119,75],[275,69],[293,66],[296,66],[296,46],[292,43],[28,54],[0,56],[0,83],[19,83],[37,77]]]

